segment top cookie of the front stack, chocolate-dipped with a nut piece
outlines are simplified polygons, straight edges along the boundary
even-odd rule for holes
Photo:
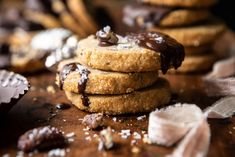
[[[95,69],[119,72],[144,72],[178,68],[184,48],[161,33],[139,33],[122,37],[110,27],[80,40],[76,51],[80,63]]]

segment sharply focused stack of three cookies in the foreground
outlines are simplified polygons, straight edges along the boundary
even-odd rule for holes
[[[80,40],[76,55],[59,64],[60,88],[81,110],[118,115],[149,112],[169,103],[169,83],[158,71],[178,68],[184,48],[161,33],[123,37],[107,26]]]

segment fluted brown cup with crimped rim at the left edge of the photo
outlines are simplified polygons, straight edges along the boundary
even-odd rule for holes
[[[0,70],[0,114],[6,113],[29,90],[29,82],[19,74]]]

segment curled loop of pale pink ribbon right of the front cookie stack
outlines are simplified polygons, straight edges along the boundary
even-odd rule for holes
[[[199,107],[176,104],[150,113],[148,136],[152,143],[171,146],[203,118]]]

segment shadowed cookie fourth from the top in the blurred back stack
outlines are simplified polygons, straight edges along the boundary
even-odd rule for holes
[[[185,54],[189,55],[200,55],[200,54],[209,54],[212,51],[212,44],[206,44],[201,46],[185,46]]]

